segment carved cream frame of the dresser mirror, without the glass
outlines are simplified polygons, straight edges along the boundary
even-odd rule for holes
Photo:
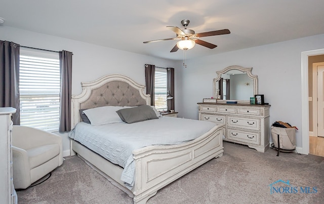
[[[247,73],[248,77],[251,78],[253,80],[253,93],[254,95],[258,94],[258,75],[253,75],[252,74],[252,67],[242,67],[242,66],[238,66],[238,65],[234,65],[234,66],[229,66],[226,67],[225,69],[221,70],[221,71],[216,71],[217,73],[217,77],[213,79],[213,97],[217,100],[217,103],[219,102],[224,102],[226,103],[226,101],[228,100],[220,100],[220,95],[218,94],[219,92],[219,88],[218,88],[218,80],[221,78],[222,74],[226,73],[227,71],[230,70],[239,70],[241,72]],[[237,103],[250,103],[250,100],[237,100]]]

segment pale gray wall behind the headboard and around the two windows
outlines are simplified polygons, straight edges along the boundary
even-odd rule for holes
[[[155,64],[160,67],[174,67],[176,77],[175,86],[177,86],[177,78],[180,77],[177,73],[174,61],[110,49],[67,38],[30,32],[8,26],[0,26],[0,39],[15,42],[21,46],[73,52],[73,95],[81,93],[82,89],[80,82],[91,81],[111,73],[125,74],[134,79],[137,83],[145,85],[144,64],[146,63]],[[177,92],[175,94],[177,94]],[[177,103],[176,101],[176,104]],[[69,139],[67,134],[60,135],[63,138],[63,150],[66,155],[69,151]]]

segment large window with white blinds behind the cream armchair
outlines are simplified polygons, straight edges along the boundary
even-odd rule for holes
[[[56,132],[59,130],[59,55],[20,51],[20,125]]]

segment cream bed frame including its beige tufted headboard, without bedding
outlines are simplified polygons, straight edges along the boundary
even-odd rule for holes
[[[80,123],[82,122],[79,114],[80,109],[103,106],[133,107],[149,105],[150,103],[150,96],[144,92],[145,86],[137,84],[125,75],[109,74],[81,84],[82,93],[73,95],[71,100],[72,128],[86,126],[85,123]],[[170,119],[152,119],[149,123]],[[182,118],[173,119],[181,120]],[[125,124],[120,123],[119,125],[126,127]],[[72,138],[70,140],[70,152],[71,155],[77,154],[112,184],[133,197],[134,203],[146,203],[150,197],[156,194],[157,190],[210,159],[222,156],[223,132],[223,126],[215,124],[207,132],[184,143],[148,145],[134,149],[131,156],[134,164],[134,182],[131,186],[121,180],[123,167],[113,164],[104,156],[91,150],[90,147],[88,148]]]

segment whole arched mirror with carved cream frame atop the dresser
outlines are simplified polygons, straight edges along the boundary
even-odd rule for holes
[[[229,66],[216,73],[217,77],[213,80],[214,98],[250,103],[250,97],[258,94],[258,76],[252,74],[252,67]]]

